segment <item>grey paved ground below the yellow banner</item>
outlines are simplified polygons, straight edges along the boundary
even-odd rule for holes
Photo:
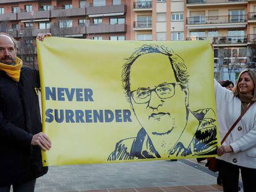
[[[216,177],[186,162],[194,164],[182,160],[53,166],[38,178],[35,191],[222,191]]]

